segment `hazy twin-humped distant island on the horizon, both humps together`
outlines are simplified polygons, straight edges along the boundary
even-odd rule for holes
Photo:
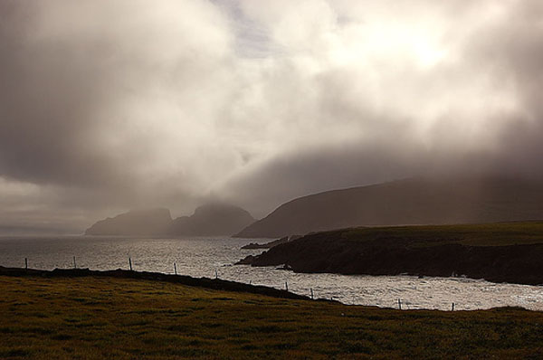
[[[90,226],[87,235],[230,236],[254,222],[251,214],[228,204],[206,204],[192,216],[172,219],[167,209],[122,213]]]

